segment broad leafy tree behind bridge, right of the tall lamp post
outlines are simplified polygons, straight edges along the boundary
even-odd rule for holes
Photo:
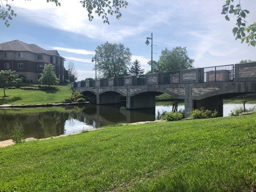
[[[186,48],[175,47],[161,51],[159,60],[153,62],[154,72],[169,72],[193,68],[193,59],[190,59]]]

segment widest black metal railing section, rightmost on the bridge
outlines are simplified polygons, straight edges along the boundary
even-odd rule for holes
[[[200,82],[230,82],[234,79],[234,65],[200,68]]]

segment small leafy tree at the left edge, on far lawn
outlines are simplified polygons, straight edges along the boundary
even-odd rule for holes
[[[17,74],[14,74],[15,71],[11,70],[1,70],[0,71],[0,85],[3,86],[3,97],[5,95],[5,88],[10,85],[18,84],[22,82],[21,78],[18,78]]]

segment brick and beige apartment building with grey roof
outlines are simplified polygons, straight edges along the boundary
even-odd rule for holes
[[[37,82],[46,64],[55,66],[56,76],[64,81],[64,60],[57,50],[45,50],[19,40],[0,43],[0,70],[12,70],[25,76],[26,82]]]

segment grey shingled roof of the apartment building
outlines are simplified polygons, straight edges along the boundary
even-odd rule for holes
[[[27,44],[19,40],[8,41],[0,43],[1,51],[29,51],[37,54],[47,54],[61,57],[57,50],[45,50],[35,44]],[[63,57],[61,57],[63,58]],[[63,58],[64,59],[64,58]]]

